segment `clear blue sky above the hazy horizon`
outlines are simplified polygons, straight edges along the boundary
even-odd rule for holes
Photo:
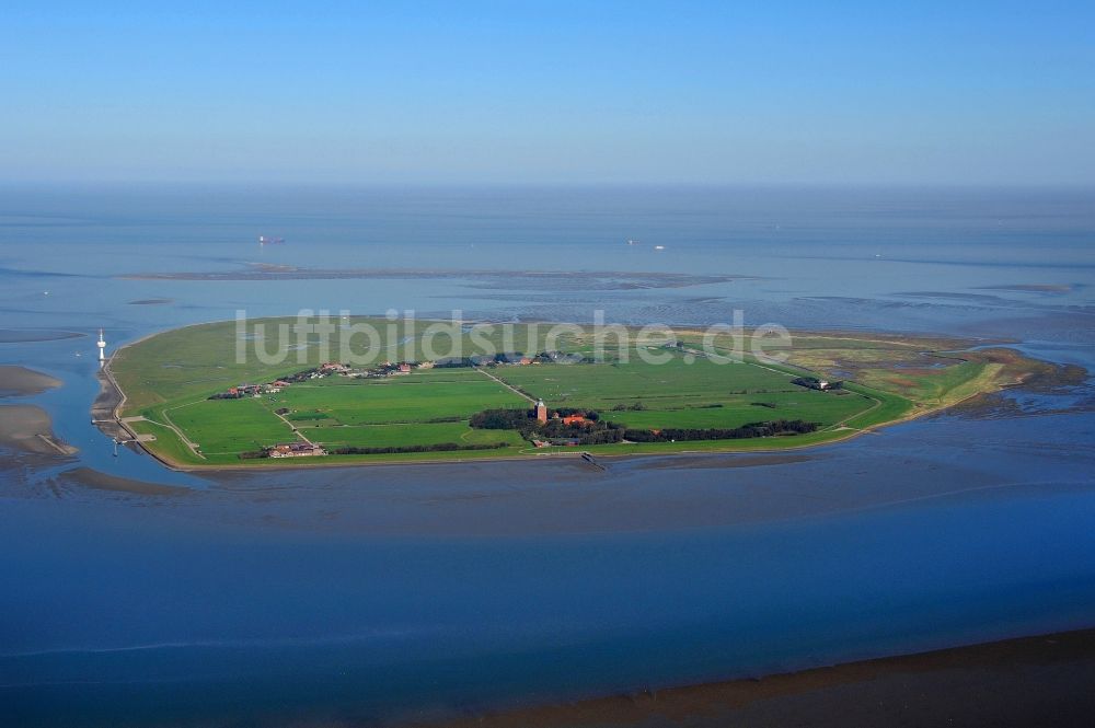
[[[9,184],[1095,184],[1090,0],[7,0],[0,69]]]

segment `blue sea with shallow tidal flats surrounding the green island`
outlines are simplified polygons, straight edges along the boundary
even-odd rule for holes
[[[90,421],[100,328],[111,353],[301,310],[741,312],[1095,371],[1095,192],[5,187],[0,363],[62,385],[4,403],[79,453],[0,469],[0,725],[395,724],[1095,626],[1090,377],[793,454],[603,471],[178,473]]]

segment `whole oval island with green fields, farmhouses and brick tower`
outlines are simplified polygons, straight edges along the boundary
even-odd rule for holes
[[[103,370],[115,390],[105,419],[174,469],[565,454],[596,465],[829,443],[1052,368],[982,342],[868,332],[794,332],[731,358],[733,336],[710,330],[460,323],[448,334],[460,356],[437,356],[429,330],[441,322],[346,316],[287,336],[298,325],[226,321],[129,344]]]

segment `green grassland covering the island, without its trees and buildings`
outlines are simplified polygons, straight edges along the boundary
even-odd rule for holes
[[[348,324],[361,321],[344,322],[343,330],[349,332]],[[269,335],[286,322],[289,320],[261,322],[260,332]],[[241,336],[234,322],[188,326],[146,338],[119,350],[110,365],[126,395],[120,415],[129,418],[132,431],[155,436],[154,441],[146,443],[150,451],[180,466],[269,465],[270,459],[241,460],[240,453],[306,439],[328,450],[411,446],[461,449],[274,462],[301,465],[541,453],[544,451],[534,450],[514,430],[477,430],[468,424],[471,415],[483,409],[527,408],[529,397],[542,397],[550,407],[595,409],[602,419],[634,429],[729,429],[775,419],[800,419],[819,426],[815,432],[771,438],[585,448],[606,454],[757,450],[848,437],[860,429],[991,391],[1017,371],[1014,358],[1002,363],[983,354],[935,354],[929,349],[954,346],[949,340],[804,334],[785,351],[786,362],[747,358],[737,363],[716,363],[692,356],[687,348],[655,348],[648,342],[632,342],[622,354],[599,363],[414,369],[387,378],[328,375],[257,397],[208,398],[238,384],[270,382],[321,361],[344,360],[339,354],[345,356],[347,351],[377,361],[425,360],[428,343],[422,332],[428,322],[369,323],[381,330],[389,327],[389,345],[370,353],[362,348],[361,337],[343,333],[335,335],[332,350],[323,351],[318,342],[306,336],[303,344],[284,346],[287,360],[268,365],[255,356],[238,356]],[[474,350],[471,330],[464,326],[456,331],[462,345],[471,347],[465,350]],[[545,342],[543,332],[522,332],[520,327],[508,338],[496,331],[477,334],[480,342],[492,342],[496,350],[527,354],[542,350],[545,343],[558,347],[556,350],[588,354],[597,344],[588,330],[578,327],[554,342]],[[251,336],[249,330],[244,346],[251,346]],[[691,346],[699,339],[685,332],[680,340]],[[655,353],[666,361],[644,361],[641,353]],[[804,373],[851,381],[842,392],[819,392],[792,383]],[[283,415],[277,414],[279,411]],[[498,443],[505,447],[470,449]]]

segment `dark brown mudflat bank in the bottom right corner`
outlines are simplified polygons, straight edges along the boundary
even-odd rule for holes
[[[1087,726],[1095,628],[1010,637],[763,677],[568,703],[465,708],[400,728],[655,728],[878,725]]]

